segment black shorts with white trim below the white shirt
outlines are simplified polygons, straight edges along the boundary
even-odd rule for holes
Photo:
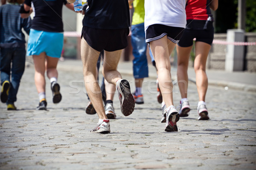
[[[151,25],[146,30],[146,42],[148,43],[154,40],[158,40],[167,35],[169,40],[177,43],[179,42],[184,29],[185,28],[165,26],[162,24]]]

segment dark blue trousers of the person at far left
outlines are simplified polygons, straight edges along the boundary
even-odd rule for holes
[[[25,70],[25,61],[25,48],[0,48],[1,85],[6,80],[11,84],[6,104],[13,104],[17,100],[20,79]]]

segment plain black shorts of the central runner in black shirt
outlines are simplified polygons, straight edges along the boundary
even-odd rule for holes
[[[83,26],[81,38],[96,51],[116,51],[127,47],[129,28],[124,29],[98,29]]]

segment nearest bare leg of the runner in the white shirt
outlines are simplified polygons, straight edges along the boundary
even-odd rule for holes
[[[163,95],[163,101],[166,103],[166,107],[168,108],[173,105],[173,85],[169,56],[175,48],[175,43],[168,40],[167,36],[164,36],[159,40],[150,42],[150,48],[158,70],[158,81]]]

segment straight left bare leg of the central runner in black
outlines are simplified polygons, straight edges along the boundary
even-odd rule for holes
[[[94,50],[87,44],[84,38],[81,39],[81,59],[83,62],[84,84],[88,96],[95,107],[99,119],[108,119],[102,103],[102,93],[96,77],[96,64],[99,58],[99,51]]]

